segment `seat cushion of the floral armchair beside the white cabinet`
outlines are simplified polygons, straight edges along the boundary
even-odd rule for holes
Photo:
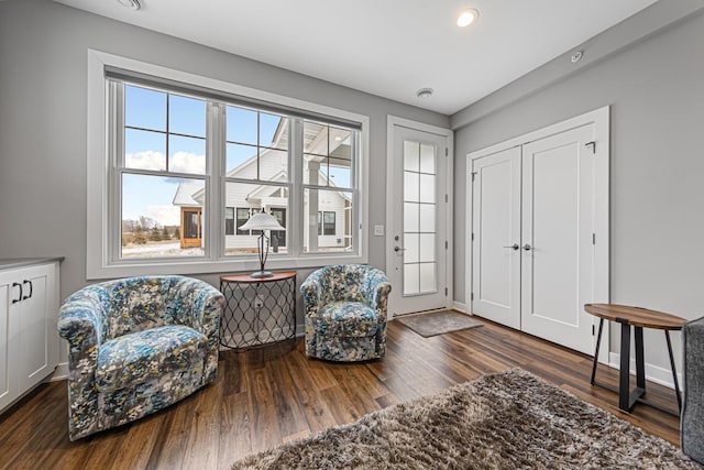
[[[111,339],[98,352],[96,386],[101,392],[113,392],[202,363],[206,343],[205,335],[183,325]]]

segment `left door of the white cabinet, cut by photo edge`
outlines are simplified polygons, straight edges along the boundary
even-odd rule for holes
[[[16,283],[16,272],[0,272],[0,409],[9,405],[19,395],[19,382],[14,368],[16,363],[16,318],[19,303],[12,303],[20,298],[20,287]]]

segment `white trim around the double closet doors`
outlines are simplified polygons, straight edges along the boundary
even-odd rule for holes
[[[487,146],[466,154],[466,187],[472,187],[472,161],[488,156],[497,152],[510,149],[513,146],[524,145],[526,143],[536,141],[538,139],[544,139],[561,132],[565,132],[572,129],[580,128],[582,125],[594,124],[595,135],[595,167],[594,171],[597,175],[608,174],[610,149],[609,149],[609,111],[610,107],[605,106],[603,108],[595,109],[590,112],[576,116],[574,118],[564,120],[562,122],[548,125],[542,129],[538,129],[532,132],[528,132],[522,135],[515,136],[507,141]],[[596,233],[595,249],[595,264],[594,264],[594,300],[595,303],[608,303],[610,298],[609,293],[609,182],[608,179],[596,178],[595,183],[595,216],[594,216],[594,232]],[[473,192],[466,190],[466,205],[465,205],[465,305],[470,313],[473,313],[473,306],[471,300],[472,293],[472,275],[473,275],[473,260],[472,260],[472,208],[473,208]],[[602,345],[600,348],[600,362],[608,363],[608,350],[609,350],[609,328],[604,328],[602,336]],[[596,341],[596,338],[594,339]]]

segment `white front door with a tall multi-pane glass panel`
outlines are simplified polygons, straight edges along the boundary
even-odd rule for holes
[[[389,315],[444,308],[448,297],[448,134],[393,125],[387,275]]]

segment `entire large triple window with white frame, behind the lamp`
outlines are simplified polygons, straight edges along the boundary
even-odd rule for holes
[[[89,121],[91,278],[366,262],[369,118],[90,51]]]

